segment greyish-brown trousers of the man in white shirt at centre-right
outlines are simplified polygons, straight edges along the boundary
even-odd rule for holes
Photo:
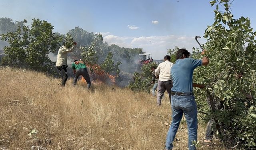
[[[167,90],[169,94],[169,99],[171,102],[171,88],[172,88],[172,80],[168,81],[159,81],[158,80],[158,86],[157,86],[157,103],[161,104],[162,97],[164,96],[165,90]]]

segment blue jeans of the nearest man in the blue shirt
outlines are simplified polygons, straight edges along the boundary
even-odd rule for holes
[[[196,150],[192,145],[192,140],[197,141],[197,105],[194,96],[172,96],[172,123],[166,136],[166,150],[173,148],[172,142],[180,125],[182,115],[186,118],[188,126],[188,148]]]

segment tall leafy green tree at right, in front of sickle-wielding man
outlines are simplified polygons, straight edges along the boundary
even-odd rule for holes
[[[256,100],[246,99],[244,93],[255,96],[256,32],[250,27],[250,19],[241,16],[234,19],[230,5],[233,1],[213,0],[216,6],[214,23],[205,30],[206,56],[210,58],[207,67],[194,72],[195,82],[206,84],[206,91],[195,90],[200,111],[206,110],[205,100],[210,104],[222,104],[222,110],[208,110],[214,118],[216,133],[229,146],[256,149]],[[219,8],[224,8],[221,10]],[[193,56],[201,58],[194,49]],[[243,79],[237,74],[244,72]],[[218,125],[218,126],[217,126]]]

